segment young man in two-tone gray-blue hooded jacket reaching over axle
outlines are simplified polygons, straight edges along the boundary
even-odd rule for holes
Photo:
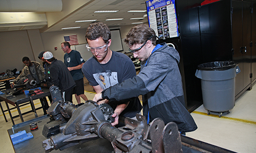
[[[144,24],[133,27],[124,41],[141,60],[140,73],[96,94],[93,100],[119,101],[143,95],[148,123],[159,117],[165,124],[175,122],[181,133],[195,131],[197,125],[185,108],[177,50],[166,43],[156,44],[155,31]]]

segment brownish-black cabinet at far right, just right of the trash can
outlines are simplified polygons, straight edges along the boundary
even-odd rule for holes
[[[252,83],[252,2],[232,1],[232,41],[233,61],[239,63],[240,73],[236,77],[236,95],[239,97],[245,90],[251,89]],[[255,18],[254,18],[255,20]]]

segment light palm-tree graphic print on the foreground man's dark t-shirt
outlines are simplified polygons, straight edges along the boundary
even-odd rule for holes
[[[95,73],[93,74],[93,77],[103,90],[118,83],[117,72],[111,72],[111,70]]]

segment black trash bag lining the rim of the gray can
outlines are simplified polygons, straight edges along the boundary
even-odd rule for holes
[[[238,66],[237,62],[234,61],[217,61],[199,64],[197,69],[199,70],[228,70]]]

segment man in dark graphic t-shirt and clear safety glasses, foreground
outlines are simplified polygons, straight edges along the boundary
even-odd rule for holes
[[[87,49],[93,57],[83,64],[82,72],[96,93],[136,76],[132,60],[109,48],[111,33],[106,24],[102,22],[90,24],[86,39]],[[133,118],[142,108],[138,97],[119,101],[118,104],[117,101],[108,101],[108,103],[115,110],[112,115],[115,117],[115,122],[112,125],[118,124],[119,115]]]

